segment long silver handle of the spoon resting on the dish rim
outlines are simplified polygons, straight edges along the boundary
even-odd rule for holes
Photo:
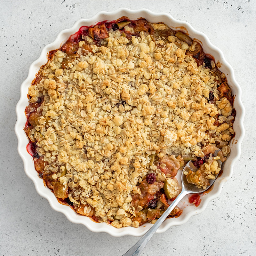
[[[140,240],[132,246],[132,248],[125,252],[123,256],[139,256],[144,247],[148,244],[150,238],[155,234],[156,230],[160,227],[167,216],[172,212],[173,208],[180,202],[180,200],[188,194],[187,191],[182,189],[179,196],[172,202],[172,204],[166,209],[163,215],[156,221],[156,223],[148,230],[148,232],[140,238]]]

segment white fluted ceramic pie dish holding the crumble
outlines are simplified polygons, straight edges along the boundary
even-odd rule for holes
[[[75,25],[70,28],[63,30],[57,36],[56,40],[47,46],[44,47],[40,57],[36,60],[29,68],[28,78],[22,83],[21,85],[21,98],[16,106],[16,113],[17,113],[17,123],[15,125],[15,132],[18,137],[18,152],[24,162],[24,169],[28,177],[33,180],[36,190],[39,195],[45,197],[51,207],[58,211],[62,212],[66,215],[68,220],[74,223],[81,223],[84,224],[88,229],[93,232],[107,232],[112,236],[123,236],[123,235],[132,235],[132,236],[141,236],[146,233],[146,231],[151,227],[152,224],[145,223],[141,225],[139,228],[133,227],[123,227],[123,228],[114,228],[113,226],[107,223],[96,223],[93,222],[88,217],[82,216],[74,212],[70,207],[67,205],[60,204],[51,190],[44,186],[44,183],[40,179],[38,173],[35,171],[33,158],[28,154],[26,150],[28,144],[28,137],[24,132],[24,126],[26,124],[26,116],[24,114],[25,108],[28,106],[28,87],[30,86],[31,82],[35,78],[36,73],[47,62],[48,52],[54,49],[60,48],[67,41],[70,35],[75,34],[76,31],[79,30],[82,26],[92,26],[97,24],[100,21],[112,21],[117,20],[118,18],[126,16],[130,20],[136,20],[140,17],[145,18],[151,23],[159,23],[163,22],[168,25],[170,28],[174,30],[181,30],[186,32],[191,38],[196,38],[198,41],[202,43],[203,50],[205,53],[211,54],[214,59],[215,63],[219,63],[219,70],[223,72],[227,77],[228,85],[230,86],[232,93],[235,97],[234,100],[234,108],[236,109],[236,118],[233,124],[233,128],[235,131],[235,137],[231,140],[230,143],[230,156],[228,157],[225,164],[223,164],[223,173],[221,177],[219,177],[212,190],[202,196],[201,204],[198,207],[195,205],[188,204],[188,198],[184,198],[183,201],[179,204],[180,208],[182,208],[183,212],[178,218],[167,219],[164,221],[162,226],[158,229],[157,232],[164,232],[171,226],[181,225],[185,223],[190,216],[199,214],[202,212],[207,204],[216,198],[220,192],[223,184],[231,177],[233,171],[233,165],[235,161],[240,156],[240,145],[241,141],[244,136],[244,127],[243,127],[243,119],[244,119],[244,107],[241,102],[241,89],[239,85],[236,83],[233,69],[230,65],[226,62],[223,57],[223,53],[215,46],[213,46],[209,39],[201,32],[194,30],[187,22],[182,22],[173,19],[170,15],[164,13],[153,13],[148,10],[137,10],[131,11],[128,9],[118,9],[114,12],[100,12],[96,14],[94,17],[88,20],[78,20]]]

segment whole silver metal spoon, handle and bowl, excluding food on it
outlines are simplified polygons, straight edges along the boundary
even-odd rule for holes
[[[216,150],[213,154],[213,156],[217,156],[218,152],[220,150]],[[218,161],[218,167],[221,167],[221,161]],[[148,230],[148,232],[140,238],[140,240],[132,246],[132,248],[125,252],[123,256],[139,256],[142,250],[145,248],[145,246],[148,244],[148,241],[150,238],[155,234],[156,230],[160,227],[160,225],[163,223],[163,221],[168,217],[168,215],[172,212],[174,207],[180,202],[180,200],[188,195],[188,194],[194,194],[194,193],[202,193],[208,188],[212,186],[214,181],[216,180],[218,174],[215,177],[215,180],[209,180],[210,185],[207,186],[206,189],[203,188],[197,188],[194,184],[190,184],[187,181],[186,175],[184,174],[184,171],[188,170],[196,171],[197,168],[194,166],[192,161],[188,161],[188,163],[184,166],[182,170],[182,177],[181,177],[181,184],[182,184],[182,190],[179,194],[179,196],[176,197],[176,199],[172,202],[172,204],[167,208],[167,210],[163,213],[163,215],[156,221],[156,223]]]

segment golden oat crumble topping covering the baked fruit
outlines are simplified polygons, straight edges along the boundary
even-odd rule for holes
[[[150,26],[168,29],[162,23]],[[124,30],[135,31],[128,25]],[[116,228],[138,227],[143,206],[135,207],[132,200],[141,195],[137,184],[146,183],[148,173],[162,184],[148,188],[159,190],[165,182],[172,198],[180,193],[174,177],[182,157],[204,157],[209,144],[228,155],[234,134],[228,87],[220,90],[214,61],[211,68],[198,65],[188,54],[198,44],[189,44],[174,35],[153,40],[147,31],[127,38],[100,25],[83,36],[72,55],[59,49],[40,69],[28,94],[31,104],[43,102],[28,118],[28,136],[36,142],[44,175],[56,182],[49,187],[54,193],[68,191],[76,212]],[[177,162],[175,175],[164,171],[170,170],[166,156]],[[220,171],[217,158],[204,163],[206,179]],[[154,214],[163,205],[164,198]],[[154,223],[157,215],[148,216]]]

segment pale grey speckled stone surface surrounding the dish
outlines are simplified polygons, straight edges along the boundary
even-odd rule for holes
[[[254,0],[0,0],[0,255],[123,255],[139,238],[92,233],[52,210],[36,193],[17,153],[20,84],[44,45],[81,18],[119,7],[148,8],[188,21],[218,46],[235,70],[246,108],[246,135],[234,175],[206,210],[156,234],[141,255],[256,255]]]

